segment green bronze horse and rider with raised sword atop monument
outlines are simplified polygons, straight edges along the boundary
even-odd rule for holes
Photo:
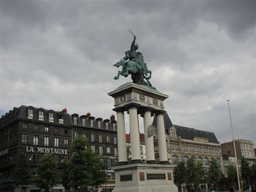
[[[118,79],[120,75],[127,77],[129,74],[131,74],[133,83],[146,85],[150,88],[156,89],[152,87],[152,84],[149,82],[152,72],[148,70],[146,63],[144,63],[142,53],[136,52],[138,49],[138,44],[135,44],[136,36],[134,34],[132,35],[134,39],[132,41],[130,50],[125,52],[125,57],[123,59],[114,64],[116,67],[122,66],[122,71],[118,71],[118,75],[115,76],[114,79]],[[144,79],[147,82],[145,82]]]

